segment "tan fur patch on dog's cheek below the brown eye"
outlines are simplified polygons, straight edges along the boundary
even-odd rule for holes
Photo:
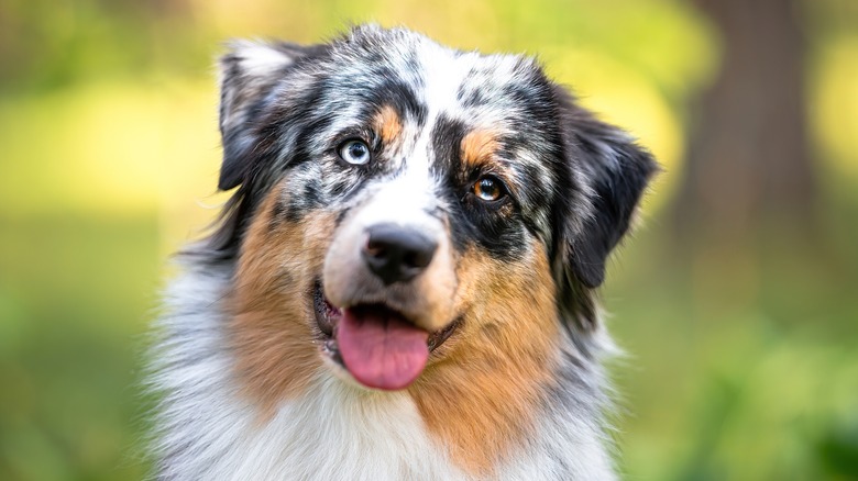
[[[465,254],[458,294],[465,322],[411,389],[430,432],[480,477],[532,436],[558,361],[554,287],[544,250],[532,250],[515,265]]]

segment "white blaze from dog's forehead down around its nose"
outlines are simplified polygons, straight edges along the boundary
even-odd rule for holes
[[[442,116],[462,118],[457,96],[470,67],[452,51],[429,43],[420,48],[424,81],[416,94],[427,109],[425,123],[418,127],[405,122],[404,142],[389,158],[394,174],[369,183],[338,228],[324,262],[323,288],[334,305],[384,302],[417,326],[436,332],[453,321],[457,280],[450,234],[437,214],[446,209],[439,195],[441,179],[432,175],[432,133]],[[437,243],[431,262],[414,280],[384,286],[366,269],[361,249],[369,230],[380,224],[417,231]]]

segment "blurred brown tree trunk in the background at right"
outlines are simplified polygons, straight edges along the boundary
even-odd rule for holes
[[[728,244],[763,226],[810,232],[815,182],[804,112],[804,38],[789,0],[698,0],[721,30],[719,77],[692,111],[681,234]],[[688,236],[683,236],[688,239]]]

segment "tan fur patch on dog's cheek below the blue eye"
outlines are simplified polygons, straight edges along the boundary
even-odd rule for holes
[[[268,195],[249,227],[230,298],[237,374],[267,415],[300,395],[322,363],[310,292],[333,226],[333,216],[310,214],[272,230],[277,197]]]

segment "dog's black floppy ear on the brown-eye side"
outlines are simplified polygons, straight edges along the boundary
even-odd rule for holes
[[[576,225],[566,225],[560,239],[561,302],[570,305],[582,302],[581,297],[588,295],[585,291],[604,281],[608,255],[628,231],[658,164],[626,132],[595,119],[564,89],[554,87],[554,92],[569,174],[578,179],[575,183],[583,183],[584,197],[590,198],[584,219]],[[572,209],[578,212],[571,215],[582,214],[580,206]],[[581,314],[594,317],[592,312]]]

